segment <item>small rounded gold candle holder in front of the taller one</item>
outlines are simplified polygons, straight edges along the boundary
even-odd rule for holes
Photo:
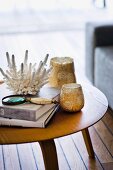
[[[80,84],[64,84],[60,93],[60,106],[68,112],[80,111],[84,106],[84,95]]]

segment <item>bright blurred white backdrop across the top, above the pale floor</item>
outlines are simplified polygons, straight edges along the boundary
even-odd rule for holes
[[[112,20],[112,0],[0,0],[0,33],[83,29]]]

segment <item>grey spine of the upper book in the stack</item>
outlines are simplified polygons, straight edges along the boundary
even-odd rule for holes
[[[34,121],[36,119],[34,111],[12,109],[2,106],[0,107],[0,117],[29,121]]]

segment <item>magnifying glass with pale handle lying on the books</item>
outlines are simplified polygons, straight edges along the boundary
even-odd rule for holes
[[[18,105],[25,102],[30,102],[34,104],[51,104],[51,103],[58,103],[58,101],[54,99],[47,99],[41,97],[26,97],[22,95],[10,95],[2,98],[3,105]]]

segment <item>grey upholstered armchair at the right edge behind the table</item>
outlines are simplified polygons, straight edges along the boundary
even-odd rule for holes
[[[86,24],[85,68],[88,79],[108,98],[113,109],[113,24]]]

